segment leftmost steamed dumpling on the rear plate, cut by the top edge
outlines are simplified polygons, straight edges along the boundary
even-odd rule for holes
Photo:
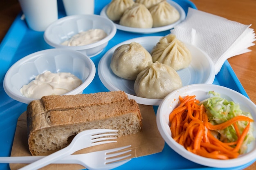
[[[133,0],[112,0],[106,11],[108,18],[112,21],[120,20],[124,11],[134,3]]]

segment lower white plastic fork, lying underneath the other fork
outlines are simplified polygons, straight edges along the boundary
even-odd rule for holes
[[[53,163],[64,163],[64,164],[80,164],[89,170],[109,170],[117,168],[131,159],[125,159],[130,157],[131,154],[124,155],[131,150],[124,150],[129,146],[123,146],[120,148],[90,152],[85,154],[68,155],[62,159],[58,159]],[[124,150],[124,151],[122,151]],[[115,152],[115,153],[112,153]],[[118,157],[123,155],[121,157]],[[32,163],[45,156],[28,156],[28,157],[0,157],[0,163]],[[115,157],[115,158],[111,158]],[[121,160],[121,161],[120,161]]]

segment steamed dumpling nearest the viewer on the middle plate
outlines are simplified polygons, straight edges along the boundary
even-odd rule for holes
[[[134,84],[134,91],[138,97],[163,99],[166,95],[182,87],[178,73],[166,64],[149,63],[141,71]]]

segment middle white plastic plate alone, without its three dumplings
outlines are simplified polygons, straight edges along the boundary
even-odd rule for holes
[[[105,55],[103,55],[98,66],[99,78],[101,79],[101,82],[104,84],[104,86],[106,86],[106,88],[108,88],[110,91],[121,90],[126,92],[129,98],[135,99],[139,104],[159,105],[162,102],[162,99],[147,99],[143,97],[137,97],[133,89],[134,81],[123,79],[115,75],[110,68],[110,62],[115,49],[122,44],[137,42],[150,52],[157,44],[157,42],[159,42],[160,38],[162,37],[146,36],[134,38],[121,42],[120,44],[112,47]],[[184,44],[191,52],[192,62],[189,67],[177,71],[177,73],[180,75],[180,78],[182,79],[183,86],[198,83],[212,84],[215,78],[215,71],[213,62],[211,61],[210,57],[197,47],[188,43]]]

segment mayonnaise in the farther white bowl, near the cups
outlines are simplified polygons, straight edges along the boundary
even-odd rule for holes
[[[81,46],[88,45],[94,42],[98,42],[105,38],[108,34],[105,33],[102,29],[90,29],[88,31],[83,31],[74,35],[69,40],[66,40],[62,45],[66,46]]]

